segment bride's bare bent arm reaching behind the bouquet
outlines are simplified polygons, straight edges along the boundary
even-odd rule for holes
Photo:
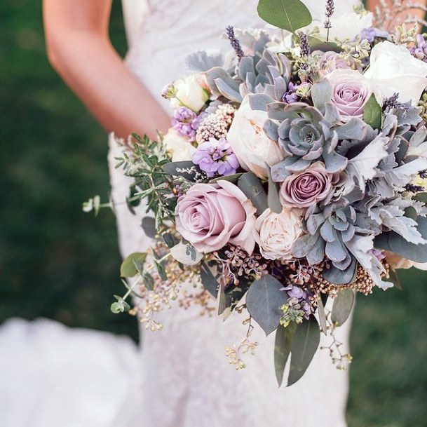
[[[43,0],[49,60],[105,129],[154,138],[168,115],[111,46],[110,12],[111,0]]]

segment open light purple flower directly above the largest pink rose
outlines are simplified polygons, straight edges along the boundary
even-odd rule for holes
[[[240,166],[236,154],[225,138],[210,138],[200,144],[193,154],[193,163],[210,178],[215,175],[233,175]]]

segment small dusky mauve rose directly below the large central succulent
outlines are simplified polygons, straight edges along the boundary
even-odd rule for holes
[[[332,196],[339,181],[339,173],[331,174],[323,163],[313,163],[304,172],[285,179],[280,187],[280,201],[287,208],[309,208]]]

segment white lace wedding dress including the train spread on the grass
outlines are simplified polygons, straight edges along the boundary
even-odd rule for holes
[[[304,1],[323,19],[323,1]],[[226,25],[262,25],[256,6],[256,0],[123,0],[128,66],[167,109],[159,94],[187,72],[184,57],[226,46],[219,39]],[[121,149],[114,138],[109,144],[112,194],[121,203],[128,180],[114,169]],[[118,205],[117,219],[123,256],[147,248],[140,215]],[[0,327],[0,426],[346,426],[348,375],[327,351],[318,351],[301,381],[278,389],[273,334],[266,338],[257,328],[256,355],[247,355],[248,367],[236,372],[224,348],[245,334],[243,316],[223,323],[174,307],[161,318],[161,332],[142,332],[140,351],[130,339],[105,332],[10,320]],[[339,332],[344,351],[348,332],[349,322]]]

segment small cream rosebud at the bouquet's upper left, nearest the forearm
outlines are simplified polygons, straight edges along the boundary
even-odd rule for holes
[[[184,106],[198,113],[209,99],[208,90],[201,86],[197,74],[191,74],[185,79],[177,80],[173,86],[176,95],[170,100],[172,108]]]

